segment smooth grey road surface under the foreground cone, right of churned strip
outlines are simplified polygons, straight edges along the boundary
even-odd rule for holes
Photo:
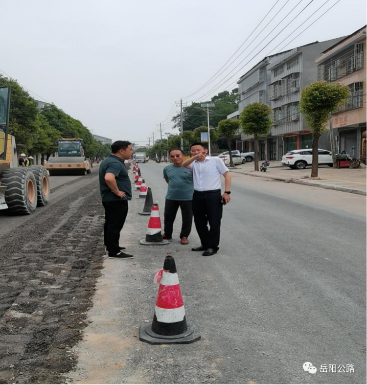
[[[163,216],[164,165],[141,165]],[[121,245],[136,258],[106,260],[92,321],[75,350],[75,384],[365,384],[367,197],[233,175],[217,255],[174,240],[143,247],[148,217],[133,198]],[[137,193],[134,193],[137,196]],[[138,327],[154,313],[155,273],[176,259],[191,345],[152,346]],[[304,362],[317,367],[303,371]],[[345,372],[321,372],[335,364]],[[339,367],[339,365],[341,365]],[[347,365],[354,372],[347,373]]]

